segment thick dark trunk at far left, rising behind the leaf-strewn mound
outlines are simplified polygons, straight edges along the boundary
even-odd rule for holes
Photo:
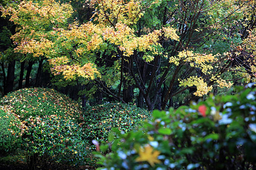
[[[8,64],[5,94],[13,91],[14,71],[15,71],[15,60]]]

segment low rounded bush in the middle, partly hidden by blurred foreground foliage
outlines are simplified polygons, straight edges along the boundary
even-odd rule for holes
[[[91,143],[93,139],[106,141],[111,128],[129,132],[141,124],[141,120],[150,119],[151,113],[135,105],[107,103],[87,110],[84,115],[83,132]]]

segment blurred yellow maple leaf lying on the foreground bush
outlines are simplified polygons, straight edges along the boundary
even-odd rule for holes
[[[158,160],[159,151],[153,151],[153,148],[150,145],[146,145],[144,148],[139,149],[139,157],[136,158],[137,162],[147,161],[152,167],[155,166],[155,163],[160,163]]]

